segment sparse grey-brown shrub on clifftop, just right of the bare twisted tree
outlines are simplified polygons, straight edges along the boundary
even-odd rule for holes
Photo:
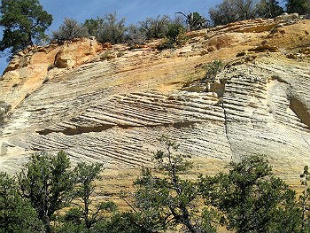
[[[209,14],[214,26],[224,25],[255,18],[256,7],[253,0],[224,0],[211,8]]]

